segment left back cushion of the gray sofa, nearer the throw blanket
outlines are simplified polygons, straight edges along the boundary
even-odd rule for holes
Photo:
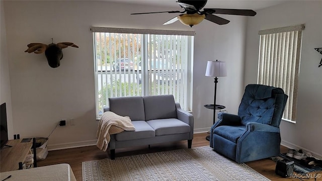
[[[143,98],[134,97],[117,97],[109,98],[110,111],[120,116],[128,116],[132,121],[144,121]]]

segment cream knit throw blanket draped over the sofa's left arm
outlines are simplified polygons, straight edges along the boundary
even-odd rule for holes
[[[96,133],[98,138],[97,147],[106,151],[111,140],[111,134],[123,131],[135,131],[132,121],[128,116],[119,116],[110,111],[103,113]]]

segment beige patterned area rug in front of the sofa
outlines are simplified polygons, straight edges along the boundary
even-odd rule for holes
[[[83,180],[269,180],[209,146],[83,162]]]

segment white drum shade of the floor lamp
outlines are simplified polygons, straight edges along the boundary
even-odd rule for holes
[[[206,68],[206,76],[226,76],[226,62],[208,61]]]

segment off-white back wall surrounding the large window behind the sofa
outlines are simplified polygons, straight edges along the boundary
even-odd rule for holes
[[[207,60],[227,62],[227,77],[220,77],[217,103],[236,113],[244,92],[243,59],[246,18],[222,16],[231,22],[219,26],[204,21],[190,28],[180,22],[164,26],[172,14],[130,13],[167,11],[104,1],[5,1],[7,45],[11,81],[14,134],[46,137],[60,119],[74,118],[75,126],[58,127],[50,136],[49,149],[93,144],[95,118],[93,40],[90,27],[195,30],[193,114],[195,130],[212,125],[214,83],[205,76]],[[31,42],[70,41],[79,48],[63,49],[58,68],[50,68],[44,54],[28,54]]]

